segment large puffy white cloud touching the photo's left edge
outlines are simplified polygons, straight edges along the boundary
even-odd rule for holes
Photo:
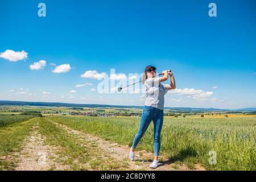
[[[28,55],[28,53],[25,52],[25,51],[21,51],[21,52],[16,51],[15,52],[15,51],[10,50],[10,49],[7,49],[5,52],[0,53],[1,58],[12,61],[12,62],[16,62],[16,61],[19,61],[19,60],[26,59],[27,55]]]

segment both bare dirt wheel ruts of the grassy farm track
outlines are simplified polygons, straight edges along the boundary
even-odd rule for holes
[[[108,140],[101,139],[100,137],[93,136],[91,134],[83,133],[72,129],[66,125],[61,125],[51,119],[49,122],[54,123],[57,127],[60,127],[67,131],[67,133],[75,136],[79,141],[81,140],[81,146],[89,147],[94,146],[97,148],[97,155],[103,160],[108,158],[113,159],[114,163],[127,163],[125,170],[160,170],[160,171],[174,171],[174,170],[191,170],[184,165],[176,165],[168,161],[168,159],[161,157],[159,167],[156,169],[150,168],[154,154],[146,151],[136,151],[135,160],[129,160],[130,147],[120,145],[118,143],[109,142]],[[12,156],[15,156],[18,161],[16,163],[15,170],[18,171],[46,171],[46,170],[67,170],[69,166],[63,166],[57,162],[60,156],[57,152],[61,151],[61,148],[46,144],[46,137],[39,133],[39,124],[36,123],[31,129],[31,134],[24,140],[22,151],[14,152]],[[57,155],[56,155],[57,154]],[[87,165],[87,163],[82,164]],[[88,166],[89,170],[93,170]],[[204,170],[200,165],[196,165],[194,170]]]

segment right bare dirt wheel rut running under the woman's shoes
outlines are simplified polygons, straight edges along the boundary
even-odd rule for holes
[[[52,120],[51,120],[52,121]],[[54,122],[54,121],[52,121]],[[111,157],[117,159],[117,161],[126,161],[129,163],[129,168],[127,170],[159,170],[159,171],[174,171],[174,170],[191,170],[184,165],[176,166],[176,164],[171,163],[168,161],[168,159],[161,158],[159,161],[159,167],[156,169],[150,168],[150,164],[152,162],[152,159],[154,159],[154,154],[150,154],[146,151],[136,151],[135,152],[135,160],[130,161],[129,160],[129,152],[130,147],[129,146],[123,146],[118,143],[112,143],[107,140],[101,139],[99,137],[95,137],[91,134],[85,134],[81,131],[77,131],[74,129],[71,129],[70,127],[67,127],[65,125],[61,125],[60,123],[56,123],[57,126],[65,129],[68,133],[72,133],[77,136],[77,138],[81,140],[90,140],[91,142],[96,143],[97,147],[101,148],[102,151],[109,154]],[[174,168],[175,166],[175,168]],[[200,165],[196,165],[194,170],[204,170],[203,167]]]

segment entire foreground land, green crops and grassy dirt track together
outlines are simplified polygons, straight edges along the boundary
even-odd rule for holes
[[[1,116],[0,169],[150,170],[152,123],[136,149],[138,160],[128,159],[139,119]],[[163,165],[158,169],[255,171],[255,134],[255,117],[165,117],[160,150]],[[40,166],[36,152],[42,151],[47,160]],[[212,154],[216,157],[210,163]]]

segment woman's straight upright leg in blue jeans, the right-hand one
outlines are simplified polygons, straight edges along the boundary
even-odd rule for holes
[[[155,160],[158,160],[160,146],[161,146],[161,131],[163,126],[163,110],[158,109],[156,111],[156,115],[153,118],[154,123],[154,154]]]

